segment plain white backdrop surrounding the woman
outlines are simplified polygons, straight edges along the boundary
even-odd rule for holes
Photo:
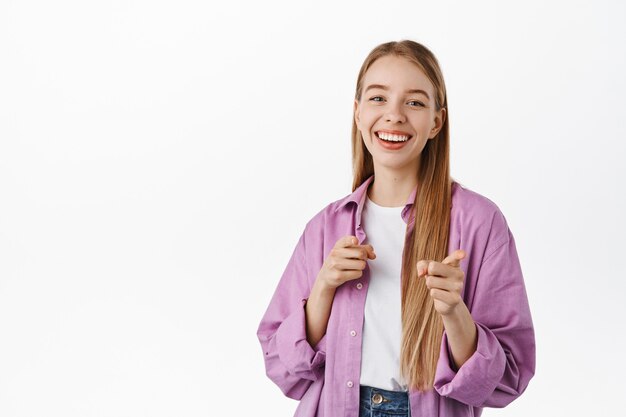
[[[290,416],[256,330],[351,190],[367,53],[448,88],[452,175],[500,207],[537,338],[485,416],[621,415],[619,1],[1,1],[0,416]]]

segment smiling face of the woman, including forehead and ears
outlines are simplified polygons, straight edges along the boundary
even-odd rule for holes
[[[414,175],[422,149],[445,118],[445,109],[436,110],[432,83],[413,62],[387,55],[369,67],[362,86],[354,120],[372,154],[374,171]]]

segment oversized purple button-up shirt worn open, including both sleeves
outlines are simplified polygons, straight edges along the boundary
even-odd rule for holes
[[[259,324],[267,376],[300,404],[296,417],[358,417],[361,330],[369,268],[337,288],[326,334],[306,339],[304,305],[337,240],[365,240],[361,213],[370,176],[352,194],[317,213],[304,228]],[[417,187],[402,219],[409,219]],[[463,249],[463,301],[476,322],[476,352],[456,369],[444,331],[434,389],[410,391],[413,416],[480,416],[520,396],[535,372],[535,337],[515,240],[499,208],[453,182],[449,250]],[[441,259],[437,259],[441,262]],[[356,334],[355,334],[356,332]]]

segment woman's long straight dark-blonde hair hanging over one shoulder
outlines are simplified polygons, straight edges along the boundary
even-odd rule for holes
[[[445,108],[443,125],[426,142],[415,173],[417,192],[407,224],[402,253],[402,344],[400,370],[411,389],[431,389],[443,336],[443,321],[434,308],[423,279],[417,278],[419,260],[441,262],[448,253],[452,179],[449,156],[449,114],[446,87],[439,63],[425,46],[410,40],[383,43],[365,58],[356,84],[355,98],[361,100],[363,77],[369,67],[387,55],[403,57],[428,77],[435,90],[435,110]],[[352,191],[374,174],[372,155],[352,118]],[[414,227],[411,230],[411,226]],[[409,233],[410,232],[410,233]]]

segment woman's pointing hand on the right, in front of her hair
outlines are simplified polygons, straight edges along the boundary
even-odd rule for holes
[[[465,274],[460,264],[465,255],[465,251],[459,249],[442,262],[421,260],[417,263],[417,276],[426,280],[435,310],[443,316],[453,313],[463,303],[461,291]]]

